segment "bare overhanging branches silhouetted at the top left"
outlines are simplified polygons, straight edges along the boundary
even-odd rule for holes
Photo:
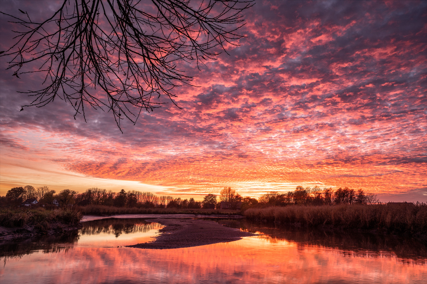
[[[237,34],[244,25],[241,12],[252,5],[252,0],[64,0],[45,20],[32,21],[22,10],[20,16],[6,14],[22,30],[0,56],[10,58],[8,69],[18,78],[43,73],[45,87],[24,92],[34,100],[23,107],[59,97],[73,107],[74,119],[78,113],[85,118],[85,106],[101,108],[111,111],[120,128],[123,117],[135,124],[142,110],[164,103],[160,96],[173,101],[175,87],[191,84],[179,61],[199,67],[225,51],[225,44],[236,45],[243,37]],[[40,70],[31,69],[33,62]]]

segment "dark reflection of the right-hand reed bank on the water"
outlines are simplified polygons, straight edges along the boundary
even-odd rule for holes
[[[420,240],[363,231],[301,228],[295,226],[256,223],[245,219],[210,219],[224,226],[263,234],[259,238],[271,243],[292,242],[298,246],[323,246],[339,249],[345,256],[398,257],[426,264],[427,246]]]

